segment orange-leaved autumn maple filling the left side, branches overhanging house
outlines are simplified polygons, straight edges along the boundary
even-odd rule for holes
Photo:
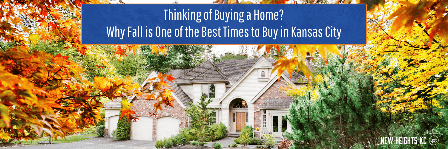
[[[130,78],[86,77],[86,69],[69,56],[30,49],[41,42],[56,42],[74,49],[80,56],[95,55],[98,48],[81,43],[81,4],[108,3],[103,0],[4,0],[0,3],[0,138],[34,139],[25,132],[47,132],[52,137],[66,136],[101,119],[99,98],[126,98],[130,95],[155,100],[155,108],[172,106],[172,90],[159,74],[148,80],[151,92],[139,89]],[[111,46],[119,57],[138,46]],[[166,54],[165,46],[152,52]],[[97,67],[108,63],[97,55]],[[144,92],[142,92],[142,91]],[[132,104],[122,100],[121,117],[132,119]],[[153,113],[156,114],[156,113]],[[129,119],[130,120],[130,119]]]

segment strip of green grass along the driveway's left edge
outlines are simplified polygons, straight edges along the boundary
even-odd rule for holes
[[[74,135],[74,136],[65,136],[65,139],[62,139],[60,136],[57,137],[57,140],[55,140],[54,138],[52,138],[52,142],[54,143],[70,143],[70,142],[78,142],[80,140],[87,140],[89,138],[85,138],[87,136],[98,136],[96,134],[90,134],[90,135]],[[36,142],[39,141],[48,141],[48,137],[43,137],[43,138],[39,138],[39,139],[35,139],[35,140],[28,140],[28,142],[26,140],[15,140],[12,141],[11,143],[13,144],[18,144],[19,142],[22,142],[22,145],[41,145],[41,144],[37,144]]]

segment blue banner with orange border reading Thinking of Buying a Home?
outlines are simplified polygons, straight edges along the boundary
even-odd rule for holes
[[[82,44],[366,44],[366,4],[83,4]]]

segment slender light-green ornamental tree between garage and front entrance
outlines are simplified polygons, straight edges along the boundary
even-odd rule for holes
[[[204,137],[208,129],[209,120],[215,119],[211,114],[215,112],[216,107],[211,111],[210,108],[207,107],[211,102],[211,98],[205,101],[205,94],[203,93],[201,98],[199,98],[198,104],[194,105],[193,103],[188,102],[190,109],[187,109],[187,116],[191,119],[191,128],[194,128],[199,132],[202,142],[205,140]]]

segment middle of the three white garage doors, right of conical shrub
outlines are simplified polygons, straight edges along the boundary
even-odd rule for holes
[[[137,118],[137,122],[132,123],[132,139],[152,140],[152,119],[146,116]]]

